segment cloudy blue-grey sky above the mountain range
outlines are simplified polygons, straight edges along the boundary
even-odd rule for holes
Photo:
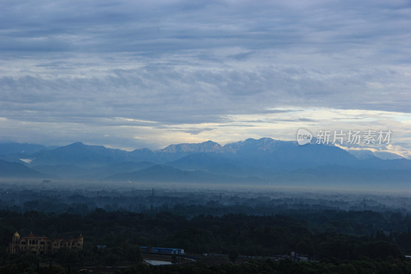
[[[411,158],[411,2],[0,2],[0,142],[134,150],[391,130]]]

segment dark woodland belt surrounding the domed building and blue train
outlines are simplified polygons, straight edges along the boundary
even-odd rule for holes
[[[3,210],[0,211],[0,245],[3,246],[0,262],[5,264],[14,260],[4,250],[16,230],[21,235],[33,231],[50,239],[76,238],[82,233],[85,236],[84,250],[62,256],[81,264],[133,261],[134,257],[129,256],[134,253],[139,256],[138,246],[183,248],[190,253],[228,254],[231,249],[236,249],[239,254],[250,256],[274,256],[295,251],[316,260],[329,257],[354,260],[363,256],[384,259],[389,255],[401,258],[410,249],[408,232],[386,235],[386,231],[379,229],[380,226],[407,227],[407,216],[392,212],[384,216],[384,213],[367,211],[303,213],[297,211],[290,214],[292,217],[200,214],[188,219],[167,211],[150,214],[96,209],[82,215]],[[351,233],[341,233],[342,224],[349,227]],[[367,229],[356,230],[356,227]],[[98,249],[97,245],[107,248]],[[58,261],[58,258],[59,254],[54,254],[53,260]]]

